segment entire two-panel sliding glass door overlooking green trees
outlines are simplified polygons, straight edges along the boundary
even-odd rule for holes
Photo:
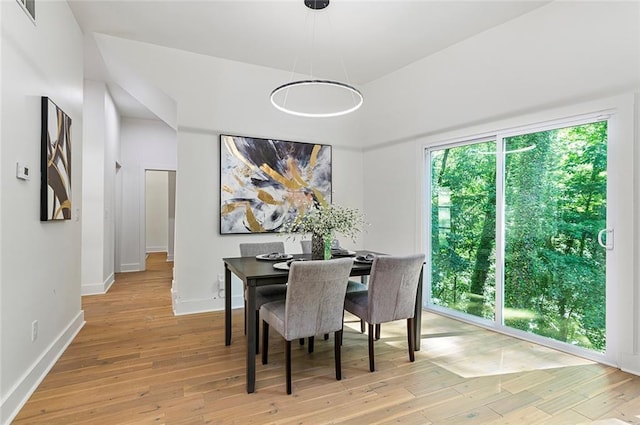
[[[428,303],[603,353],[607,122],[496,135],[428,158]]]

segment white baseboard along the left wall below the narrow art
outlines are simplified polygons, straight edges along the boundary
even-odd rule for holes
[[[84,324],[84,311],[80,310],[31,368],[25,372],[20,381],[7,391],[7,395],[0,404],[1,424],[9,424],[16,417]]]

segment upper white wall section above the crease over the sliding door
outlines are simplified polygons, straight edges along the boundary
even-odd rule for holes
[[[371,144],[637,88],[638,2],[556,1],[365,87]]]

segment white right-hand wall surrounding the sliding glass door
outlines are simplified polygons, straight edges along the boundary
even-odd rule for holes
[[[609,206],[616,206],[608,219],[619,232],[609,337],[616,342],[613,361],[640,374],[634,92],[640,92],[638,2],[553,2],[371,83],[363,126],[363,138],[375,144],[364,153],[372,223],[365,245],[425,250],[425,146],[611,108],[609,159],[617,173],[610,175]]]

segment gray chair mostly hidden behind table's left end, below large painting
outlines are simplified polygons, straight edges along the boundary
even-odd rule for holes
[[[240,244],[240,256],[241,257],[255,257],[256,255],[261,254],[271,254],[271,253],[280,253],[284,254],[284,242],[259,242],[259,243],[241,243]],[[245,334],[247,333],[247,314],[250,312],[247,311],[247,287],[244,287],[244,326],[245,326]],[[277,285],[266,285],[259,286],[256,288],[256,353],[260,352],[260,306],[262,304],[284,300],[284,297],[287,293],[287,285],[286,284],[277,284]]]

